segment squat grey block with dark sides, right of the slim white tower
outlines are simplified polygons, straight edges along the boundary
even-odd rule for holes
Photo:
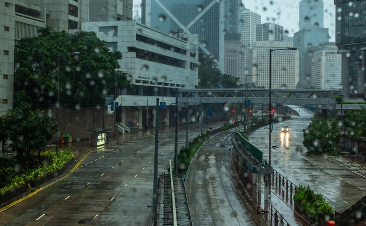
[[[257,24],[255,41],[283,41],[284,27],[273,23]]]

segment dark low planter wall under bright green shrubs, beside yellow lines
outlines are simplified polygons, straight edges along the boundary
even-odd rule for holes
[[[8,203],[12,199],[27,192],[27,190],[29,189],[28,188],[29,183],[30,183],[31,187],[38,187],[39,185],[44,184],[47,181],[52,180],[53,178],[56,178],[59,175],[63,174],[74,162],[75,162],[75,159],[71,159],[61,169],[56,170],[52,173],[49,173],[46,176],[36,178],[35,180],[32,180],[32,181],[28,181],[24,185],[21,185],[17,188],[14,188],[14,189],[6,192],[4,195],[0,196],[0,206],[3,203]]]

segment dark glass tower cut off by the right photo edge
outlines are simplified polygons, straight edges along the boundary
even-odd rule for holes
[[[342,56],[343,98],[365,98],[366,33],[364,32],[364,1],[334,1],[336,6],[336,38]]]

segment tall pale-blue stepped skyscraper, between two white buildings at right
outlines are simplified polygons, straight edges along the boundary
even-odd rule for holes
[[[299,84],[297,88],[311,86],[311,47],[329,41],[329,29],[323,28],[322,0],[301,0],[299,3],[300,31],[294,33],[294,46],[299,50]]]

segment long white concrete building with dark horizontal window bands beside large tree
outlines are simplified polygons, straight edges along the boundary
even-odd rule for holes
[[[156,98],[160,98],[166,102],[160,120],[170,125],[175,120],[170,119],[175,91],[198,85],[198,69],[194,67],[198,63],[198,35],[176,38],[136,21],[88,22],[83,23],[83,30],[96,32],[112,51],[122,52],[121,69],[128,73],[133,88],[118,93],[116,122],[125,126],[132,123],[138,129],[154,127]]]

